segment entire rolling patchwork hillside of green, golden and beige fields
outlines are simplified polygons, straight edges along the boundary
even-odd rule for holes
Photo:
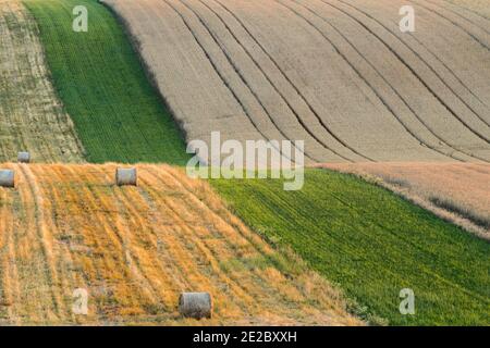
[[[298,191],[183,170],[184,139],[215,130],[305,140],[308,165],[375,174],[487,236],[483,1],[100,2],[0,0],[0,169],[16,171],[0,326],[488,325],[488,240],[399,195],[320,169]],[[113,185],[115,163],[144,162],[138,187]],[[183,319],[182,291],[209,291],[213,318]]]

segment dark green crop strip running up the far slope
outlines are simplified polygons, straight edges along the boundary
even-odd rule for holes
[[[185,145],[122,26],[95,0],[26,0],[54,87],[90,162],[184,164]],[[75,5],[88,33],[72,29]]]

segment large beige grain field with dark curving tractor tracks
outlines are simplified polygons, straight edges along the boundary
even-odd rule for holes
[[[309,163],[490,161],[477,5],[409,1],[416,32],[402,34],[402,0],[103,2],[187,140],[305,140]]]

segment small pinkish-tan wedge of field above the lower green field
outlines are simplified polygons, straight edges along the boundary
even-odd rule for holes
[[[483,163],[327,164],[401,194],[415,203],[490,239],[490,165]]]

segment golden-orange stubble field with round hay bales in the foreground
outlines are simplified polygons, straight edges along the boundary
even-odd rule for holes
[[[293,256],[274,251],[182,170],[115,164],[2,164],[0,325],[362,324],[340,294]],[[88,315],[72,294],[88,290]],[[181,291],[209,291],[213,318],[182,319]]]

